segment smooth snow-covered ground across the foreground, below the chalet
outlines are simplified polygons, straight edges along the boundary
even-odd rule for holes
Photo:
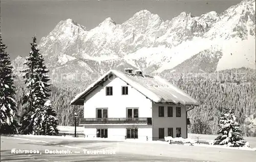
[[[70,140],[69,140],[70,139]],[[97,140],[97,141],[96,141]],[[169,145],[167,142],[114,142],[100,139],[84,140],[83,137],[61,137],[44,135],[1,136],[1,161],[252,161],[255,151],[232,150],[186,145]],[[105,140],[105,139],[104,139]],[[136,141],[136,140],[131,140]],[[162,144],[161,144],[162,143]],[[36,148],[35,148],[36,146]],[[36,149],[42,154],[16,154],[10,150]],[[72,154],[46,154],[45,150],[70,150]],[[110,150],[115,155],[84,155],[84,150]],[[86,158],[86,159],[85,159]]]

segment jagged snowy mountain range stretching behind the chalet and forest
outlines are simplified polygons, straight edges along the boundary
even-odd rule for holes
[[[221,14],[182,12],[166,21],[142,10],[123,24],[109,17],[92,30],[62,20],[38,47],[51,73],[65,80],[93,80],[126,67],[147,74],[255,68],[255,0]],[[20,56],[12,61],[16,72],[23,62]]]

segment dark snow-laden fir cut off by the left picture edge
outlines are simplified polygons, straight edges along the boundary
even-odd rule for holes
[[[16,134],[18,123],[15,120],[17,104],[15,102],[15,87],[13,86],[12,66],[6,45],[2,42],[0,34],[0,133]]]

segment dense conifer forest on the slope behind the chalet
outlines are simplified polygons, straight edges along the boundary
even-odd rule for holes
[[[256,136],[256,126],[251,122],[256,119],[255,71],[242,68],[241,70],[228,70],[220,73],[228,75],[233,71],[241,74],[243,76],[242,79],[238,77],[238,80],[231,78],[221,80],[217,79],[214,74],[209,74],[207,77],[191,75],[186,79],[180,77],[182,74],[173,74],[165,77],[201,104],[199,107],[188,111],[188,118],[190,118],[191,122],[190,126],[188,126],[190,133],[217,134],[222,108],[233,107],[243,135]],[[87,87],[92,82],[93,80],[89,79],[89,82],[83,85],[51,87],[52,107],[57,113],[60,125],[73,126],[74,113],[72,112],[74,111],[78,112],[79,118],[83,117],[82,106],[71,106],[69,104],[77,95],[77,92],[84,90],[84,87]],[[16,84],[16,88],[15,99],[21,102],[24,95],[24,87],[22,84]],[[18,114],[21,114],[22,107],[19,103],[17,110]],[[202,130],[195,128],[198,125],[198,121],[200,121],[199,126],[201,125]]]

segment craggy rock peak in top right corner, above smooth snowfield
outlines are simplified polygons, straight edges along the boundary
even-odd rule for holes
[[[245,0],[220,14],[206,37],[230,39],[255,37],[255,0]],[[219,30],[216,30],[219,29]],[[255,39],[255,38],[254,38]]]

